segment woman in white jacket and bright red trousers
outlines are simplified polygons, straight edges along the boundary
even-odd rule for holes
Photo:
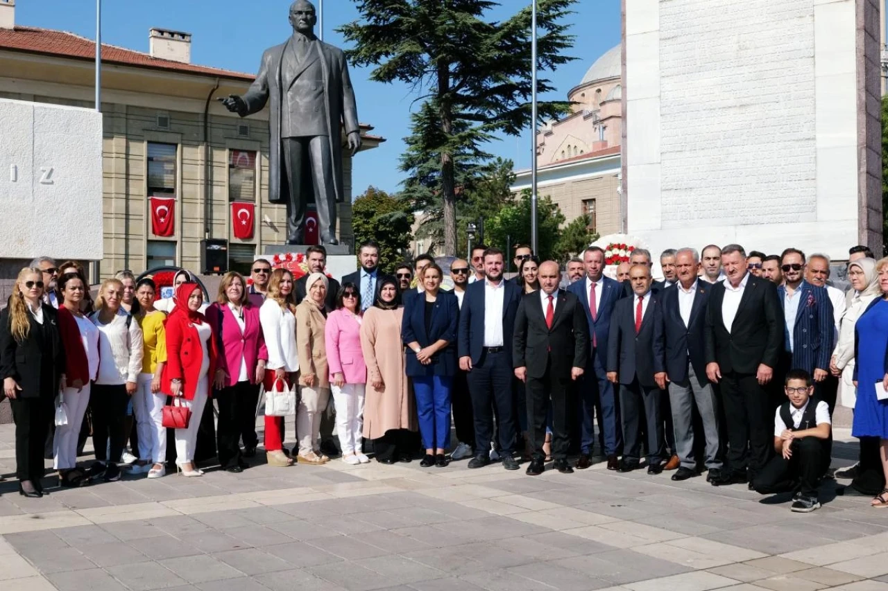
[[[268,280],[268,295],[259,308],[259,322],[266,337],[268,363],[265,388],[273,389],[282,380],[287,388],[296,383],[299,361],[296,354],[296,295],[293,275],[286,269],[275,269]],[[282,416],[266,416],[266,458],[269,466],[291,466],[293,460],[283,453],[284,420]]]

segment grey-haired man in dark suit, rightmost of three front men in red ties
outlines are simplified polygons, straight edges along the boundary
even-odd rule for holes
[[[638,469],[641,429],[647,440],[647,473],[662,472],[665,453],[661,393],[666,387],[663,365],[662,306],[651,291],[651,268],[633,264],[629,271],[633,296],[614,304],[607,340],[607,379],[619,384],[623,453],[619,470]]]

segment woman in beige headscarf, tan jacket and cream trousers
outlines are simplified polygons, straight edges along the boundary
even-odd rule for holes
[[[299,406],[296,433],[300,464],[322,464],[329,457],[321,453],[321,413],[330,395],[327,364],[327,276],[315,272],[305,281],[308,294],[296,307],[296,350],[299,357]],[[345,451],[345,450],[344,450]]]

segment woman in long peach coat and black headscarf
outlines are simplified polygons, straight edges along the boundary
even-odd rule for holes
[[[364,437],[373,439],[377,461],[411,461],[416,433],[416,399],[407,379],[407,360],[401,342],[398,280],[383,277],[373,306],[364,311],[361,350],[367,364],[364,399]]]

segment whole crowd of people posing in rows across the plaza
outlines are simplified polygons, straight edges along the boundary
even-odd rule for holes
[[[476,245],[452,262],[452,291],[432,256],[385,275],[378,254],[361,245],[361,268],[341,284],[322,247],[308,248],[299,280],[259,258],[249,282],[226,273],[212,303],[186,271],[159,300],[150,277],[119,272],[93,303],[82,266],[36,259],[0,313],[20,493],[44,494],[48,445],[62,486],[119,479],[121,461],[165,476],[170,405],[194,417],[172,429],[176,467],[200,477],[212,398],[219,464],[240,472],[259,445],[260,389],[297,389],[292,451],[283,417],[265,417],[271,466],[338,454],[358,465],[365,451],[391,464],[421,449],[423,467],[523,460],[535,476],[547,461],[571,473],[601,457],[621,472],[707,471],[712,485],[792,492],[800,512],[820,507],[838,401],[861,445],[837,476],[888,507],[888,258],[866,247],[850,250],[847,290],[829,284],[829,257],[796,248],[668,249],[654,281],[643,248],[616,280],[604,251],[587,248],[564,279],[519,245],[505,280],[503,252]],[[78,467],[88,413],[96,461]]]

